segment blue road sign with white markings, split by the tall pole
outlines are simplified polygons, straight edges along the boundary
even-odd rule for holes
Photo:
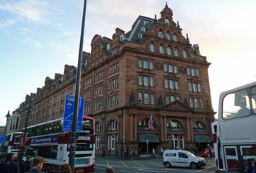
[[[65,110],[63,116],[63,131],[72,130],[72,121],[74,115],[74,101],[75,97],[73,95],[66,95]],[[84,112],[84,98],[79,98],[79,110],[78,110],[78,119],[77,119],[77,131],[81,131],[82,121],[83,121],[83,112]]]

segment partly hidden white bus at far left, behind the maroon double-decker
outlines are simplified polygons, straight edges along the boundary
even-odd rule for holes
[[[14,153],[18,156],[19,141],[22,138],[22,132],[12,132],[6,134],[6,141],[3,143],[2,152]]]

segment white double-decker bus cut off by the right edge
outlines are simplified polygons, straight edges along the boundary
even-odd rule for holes
[[[216,142],[219,169],[256,169],[256,81],[221,93]]]

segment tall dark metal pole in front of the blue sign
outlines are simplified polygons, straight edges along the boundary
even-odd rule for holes
[[[69,151],[69,164],[72,169],[72,173],[74,173],[74,165],[75,165],[75,153],[76,153],[76,128],[77,128],[77,116],[78,116],[78,102],[79,102],[79,92],[80,92],[80,79],[81,79],[81,60],[83,55],[83,43],[84,43],[84,20],[85,13],[87,9],[87,0],[84,0],[84,10],[83,17],[81,22],[81,37],[80,37],[80,47],[79,47],[79,59],[77,64],[77,72],[76,72],[76,94],[75,94],[75,104],[74,104],[74,114],[73,114],[73,122],[72,122],[72,132],[71,132],[71,147]]]

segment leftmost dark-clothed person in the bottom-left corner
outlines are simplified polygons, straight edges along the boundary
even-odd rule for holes
[[[14,161],[14,154],[7,154],[6,160],[0,163],[0,172],[19,173],[19,164]]]

